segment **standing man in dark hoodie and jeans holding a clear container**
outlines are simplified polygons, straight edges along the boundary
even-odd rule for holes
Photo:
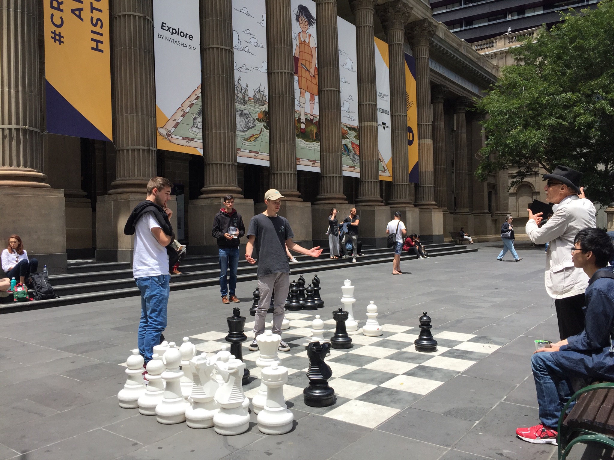
[[[217,239],[220,256],[220,293],[222,303],[240,302],[236,298],[236,269],[239,266],[239,239],[245,234],[245,226],[241,214],[236,212],[235,197],[226,195],[224,206],[213,220],[212,236]],[[230,268],[230,286],[226,275]]]

